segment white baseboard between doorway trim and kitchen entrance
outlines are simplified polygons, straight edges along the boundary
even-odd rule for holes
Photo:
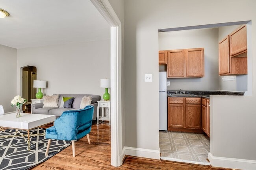
[[[132,148],[124,146],[122,150],[122,157],[125,155],[136,156],[136,157],[145,157],[150,159],[159,159],[160,160],[160,150],[148,150],[142,148]]]

